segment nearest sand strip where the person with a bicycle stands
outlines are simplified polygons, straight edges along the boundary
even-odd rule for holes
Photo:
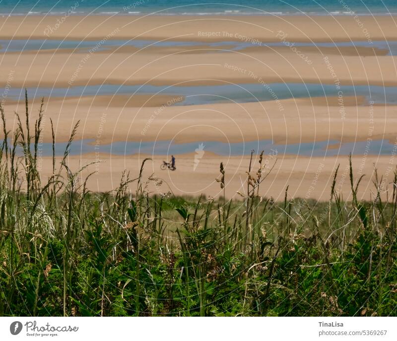
[[[273,153],[275,154],[275,153]],[[265,154],[263,165],[264,174],[268,173],[265,181],[261,184],[260,195],[264,198],[273,197],[275,201],[284,200],[285,191],[288,187],[288,197],[295,199],[317,199],[321,201],[330,200],[331,185],[334,171],[339,165],[336,192],[344,200],[351,200],[348,157],[303,157],[293,155]],[[149,158],[145,163],[143,179],[146,190],[150,195],[177,195],[196,197],[202,194],[206,199],[223,196],[216,179],[219,177],[219,164],[225,166],[226,197],[243,200],[241,194],[247,193],[247,171],[250,164],[249,156],[219,156],[206,152],[199,160],[195,168],[195,154],[177,155],[176,171],[161,170],[160,165],[164,161],[170,162],[170,155],[133,155],[120,156],[99,154],[85,154],[82,156],[70,156],[69,166],[77,170],[82,166],[89,165],[80,174],[78,184],[82,185],[86,177],[87,188],[93,192],[108,192],[116,190],[122,179],[123,171],[130,172],[129,179],[133,180],[139,173],[142,161]],[[91,164],[94,162],[93,164]],[[375,176],[375,165],[378,174],[382,174],[382,198],[386,199],[393,194],[391,182],[394,179],[396,165],[395,156],[353,156],[353,170],[357,178],[364,175],[359,191],[358,199],[373,200],[376,188],[372,181]],[[40,174],[43,181],[52,175],[52,159],[42,157],[40,159]],[[57,164],[57,168],[59,164]],[[251,175],[256,178],[259,168],[259,155],[254,155]],[[124,177],[124,180],[127,178]],[[357,181],[358,179],[355,179]],[[136,181],[129,186],[131,193],[136,190]]]

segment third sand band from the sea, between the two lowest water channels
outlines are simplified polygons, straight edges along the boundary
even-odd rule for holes
[[[288,99],[258,103],[167,106],[167,97],[84,97],[52,99],[46,102],[43,142],[51,142],[50,118],[57,142],[69,138],[80,120],[76,139],[97,139],[102,144],[116,141],[175,140],[175,142],[248,142],[271,139],[278,144],[311,141],[354,142],[367,138],[396,141],[397,106],[360,105],[360,99],[346,98],[341,120],[337,98]],[[146,103],[147,102],[147,103]],[[132,106],[136,103],[139,106]],[[159,106],[154,106],[154,104]],[[164,105],[165,104],[165,105]],[[282,111],[279,110],[279,104]],[[157,114],[159,108],[163,110]],[[32,107],[37,117],[39,101]],[[24,103],[4,106],[9,128],[16,127],[14,110],[24,114]],[[12,126],[11,126],[12,125]],[[34,122],[31,122],[34,129]],[[101,130],[98,134],[98,130]],[[98,136],[100,135],[100,136]]]

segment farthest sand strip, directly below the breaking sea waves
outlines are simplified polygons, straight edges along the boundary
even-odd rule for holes
[[[9,38],[9,33],[4,30],[7,27],[14,39],[102,39],[115,29],[120,30],[114,35],[118,39],[233,41],[236,39],[234,35],[237,34],[263,41],[277,41],[275,35],[280,30],[287,33],[291,41],[367,40],[368,35],[374,41],[396,38],[396,18],[384,15],[75,15],[68,16],[61,25],[57,25],[57,19],[60,18],[34,15],[2,17],[0,37]],[[223,32],[230,34],[226,35]]]

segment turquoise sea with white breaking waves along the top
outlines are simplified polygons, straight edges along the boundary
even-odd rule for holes
[[[318,14],[397,13],[396,0],[0,0],[0,15],[69,14]]]

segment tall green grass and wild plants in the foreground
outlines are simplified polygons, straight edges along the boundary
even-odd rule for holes
[[[376,200],[360,202],[350,164],[352,200],[336,169],[329,202],[275,203],[260,197],[265,168],[247,165],[241,200],[206,200],[151,196],[144,161],[91,193],[68,149],[41,183],[42,111],[34,133],[27,99],[25,114],[9,136],[1,109],[1,316],[396,316],[396,175],[389,201],[376,175]]]

